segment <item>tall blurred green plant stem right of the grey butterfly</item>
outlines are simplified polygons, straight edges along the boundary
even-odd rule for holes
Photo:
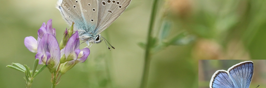
[[[142,80],[140,84],[140,88],[145,88],[147,86],[148,76],[149,76],[149,69],[150,69],[150,48],[152,45],[152,32],[153,32],[153,25],[155,21],[156,11],[157,11],[157,2],[158,0],[154,0],[153,7],[152,7],[152,13],[150,17],[150,26],[147,36],[147,46],[145,51],[145,60],[144,60],[144,69],[142,74]]]

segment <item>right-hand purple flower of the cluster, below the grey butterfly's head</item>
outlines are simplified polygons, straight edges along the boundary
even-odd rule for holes
[[[88,55],[90,54],[89,48],[80,48],[80,40],[78,39],[79,35],[76,31],[68,40],[67,45],[64,49],[61,50],[61,60],[63,63],[61,66],[61,74],[64,74],[70,70],[74,65],[80,62],[87,60]]]

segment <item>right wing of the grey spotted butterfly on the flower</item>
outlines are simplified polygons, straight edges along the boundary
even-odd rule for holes
[[[127,8],[131,0],[99,0],[98,24],[93,35],[100,34],[113,23]]]

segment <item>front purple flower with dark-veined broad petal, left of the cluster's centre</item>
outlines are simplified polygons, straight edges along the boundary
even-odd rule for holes
[[[35,59],[39,59],[39,64],[46,64],[48,68],[55,68],[60,61],[59,44],[54,35],[50,33],[43,34],[38,45],[38,53]]]

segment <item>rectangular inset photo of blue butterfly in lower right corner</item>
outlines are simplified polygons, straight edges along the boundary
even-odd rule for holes
[[[199,60],[199,88],[266,88],[266,60]]]

